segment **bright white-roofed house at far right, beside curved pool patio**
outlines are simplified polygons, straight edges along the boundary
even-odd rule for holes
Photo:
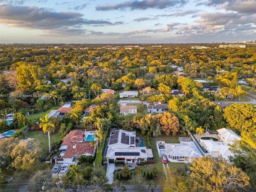
[[[228,144],[233,144],[235,140],[240,140],[239,136],[227,128],[218,129],[219,140],[203,140],[200,138],[200,144],[206,154],[212,157],[222,157],[226,162],[230,162],[229,157],[234,154],[229,150]]]

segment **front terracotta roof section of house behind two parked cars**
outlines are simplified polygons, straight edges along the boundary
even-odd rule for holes
[[[94,146],[90,145],[89,141],[83,141],[76,144],[69,144],[63,157],[72,158],[74,155],[83,155],[86,153],[93,154],[94,148]]]

